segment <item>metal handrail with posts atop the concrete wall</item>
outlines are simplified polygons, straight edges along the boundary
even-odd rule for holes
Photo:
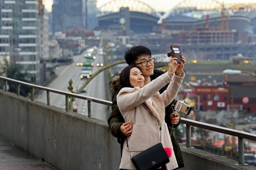
[[[0,80],[1,79],[5,81],[5,85],[4,85],[5,92],[7,92],[7,82],[8,81],[17,84],[17,96],[20,95],[20,90],[19,90],[20,85],[30,87],[32,101],[34,100],[34,89],[46,91],[47,105],[50,105],[50,92],[57,93],[57,94],[63,94],[66,96],[66,111],[69,110],[68,97],[75,97],[75,98],[87,100],[87,102],[88,102],[88,117],[91,117],[91,102],[96,102],[96,103],[100,103],[100,104],[104,104],[104,105],[108,105],[108,106],[112,105],[112,102],[107,101],[107,100],[101,100],[101,99],[97,99],[94,97],[89,97],[89,96],[84,96],[84,95],[80,95],[80,94],[76,94],[76,93],[69,93],[69,92],[60,91],[60,90],[56,90],[56,89],[52,89],[52,88],[38,86],[38,85],[14,80],[14,79],[3,77],[3,76],[0,76]],[[181,118],[181,123],[186,124],[186,147],[187,148],[191,148],[191,126],[238,137],[238,164],[237,165],[245,165],[245,163],[244,163],[244,139],[256,141],[256,135],[252,134],[252,133],[247,133],[247,132],[234,130],[234,129],[230,129],[230,128],[226,128],[226,127],[211,125],[211,124],[198,122],[198,121],[194,121],[194,120],[190,120],[190,119],[186,119],[186,118]]]

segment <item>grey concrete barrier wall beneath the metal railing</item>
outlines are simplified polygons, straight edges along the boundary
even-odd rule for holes
[[[0,136],[60,170],[115,170],[120,145],[107,122],[30,101],[0,90]],[[185,167],[193,169],[256,169],[181,145]]]

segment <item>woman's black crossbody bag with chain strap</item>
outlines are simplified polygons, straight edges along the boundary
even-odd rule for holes
[[[129,150],[128,146],[128,140],[127,140],[127,148],[130,154],[130,157],[132,159],[132,162],[134,163],[135,167],[138,170],[152,170],[159,168],[161,166],[164,166],[166,163],[168,163],[169,157],[167,153],[165,152],[163,145],[162,145],[162,129],[160,127],[160,143],[156,144],[143,152],[139,153],[138,155],[132,157],[131,152]]]

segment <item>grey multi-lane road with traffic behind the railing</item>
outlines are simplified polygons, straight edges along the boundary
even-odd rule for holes
[[[73,81],[73,91],[77,91],[77,86],[79,84],[83,84],[86,79],[80,79],[80,72],[82,70],[82,66],[76,66],[77,62],[84,62],[86,59],[84,59],[84,54],[87,52],[85,51],[81,55],[73,56],[74,62],[69,65],[62,65],[55,69],[55,74],[57,77],[48,84],[47,87],[58,89],[62,91],[68,91],[67,87],[69,86],[69,80],[72,79]],[[97,67],[96,63],[104,63],[103,56],[101,54],[94,54],[96,56],[96,59],[94,60],[95,66],[93,67],[93,73],[95,73],[98,69],[101,67]],[[95,97],[99,99],[109,100],[107,99],[107,89],[106,89],[106,82],[105,80],[105,73],[101,72],[98,74],[94,79],[91,80],[91,82],[85,87],[86,93],[80,93],[82,95]],[[35,96],[36,101],[40,101],[43,103],[47,103],[47,97],[46,92],[41,92],[38,95]],[[88,107],[87,107],[87,101],[82,99],[75,99],[75,103],[78,105],[77,112],[83,115],[88,115]],[[107,121],[109,114],[110,114],[110,107],[98,103],[91,102],[91,113],[92,117]],[[65,108],[65,96],[56,94],[56,93],[50,93],[50,105],[59,107],[59,108]]]

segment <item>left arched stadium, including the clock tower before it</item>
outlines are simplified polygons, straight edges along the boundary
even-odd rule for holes
[[[161,14],[138,0],[114,0],[99,7],[100,30],[114,30],[119,35],[152,32]]]

